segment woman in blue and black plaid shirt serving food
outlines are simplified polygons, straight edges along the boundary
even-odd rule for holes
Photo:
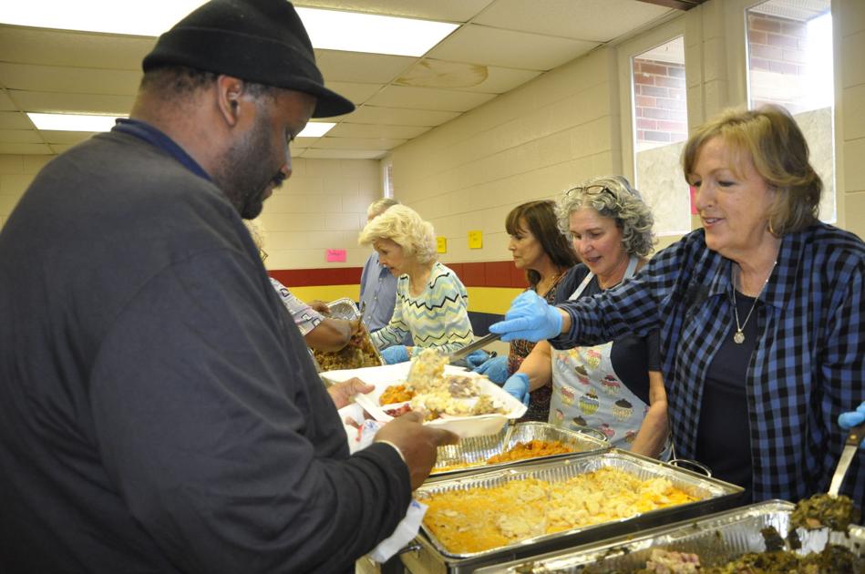
[[[826,492],[845,439],[836,421],[865,396],[865,245],[818,220],[822,183],[783,108],[710,120],[683,167],[702,229],[594,297],[520,295],[490,329],[565,349],[660,325],[676,456],[754,500]],[[865,492],[861,456],[842,491]]]

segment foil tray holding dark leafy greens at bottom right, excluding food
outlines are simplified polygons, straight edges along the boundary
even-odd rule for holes
[[[761,528],[775,527],[786,536],[790,513],[795,505],[782,500],[769,500],[739,507],[698,520],[646,530],[638,536],[620,537],[601,543],[583,545],[551,552],[530,560],[516,560],[477,572],[510,572],[516,574],[550,574],[551,572],[582,572],[592,565],[599,571],[627,572],[645,567],[654,548],[692,552],[700,556],[704,566],[719,566],[747,552],[763,552],[766,545]],[[800,552],[819,552],[827,542],[838,544],[865,559],[865,528],[850,527],[850,536],[826,529],[799,530]],[[863,565],[865,568],[865,565]]]

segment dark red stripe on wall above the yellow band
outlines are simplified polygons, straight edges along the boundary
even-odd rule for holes
[[[517,269],[513,261],[471,261],[447,263],[466,287],[518,287],[529,286],[526,274]],[[360,282],[361,267],[335,269],[272,269],[271,277],[288,287],[314,285],[351,285]]]

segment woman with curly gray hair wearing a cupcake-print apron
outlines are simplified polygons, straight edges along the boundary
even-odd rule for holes
[[[556,214],[581,264],[556,291],[556,303],[589,297],[628,280],[652,251],[654,219],[627,179],[604,176],[567,191]],[[607,343],[553,349],[538,343],[505,383],[525,401],[552,382],[550,422],[591,427],[614,446],[646,456],[668,456],[666,394],[658,333]]]

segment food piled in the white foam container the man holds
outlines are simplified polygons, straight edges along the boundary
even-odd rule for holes
[[[479,376],[445,374],[447,355],[435,349],[424,349],[414,361],[405,384],[388,386],[379,397],[379,405],[409,401],[409,408],[426,413],[427,420],[442,415],[472,416],[506,414],[505,405],[481,392]]]

